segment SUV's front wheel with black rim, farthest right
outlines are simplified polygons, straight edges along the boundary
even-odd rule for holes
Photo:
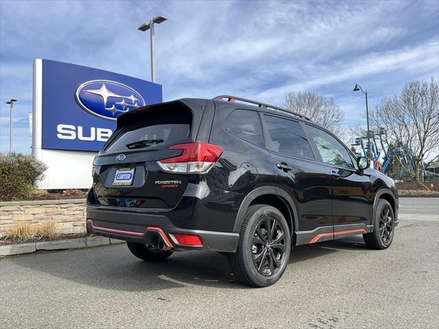
[[[371,249],[387,249],[390,247],[395,230],[395,216],[392,206],[387,200],[378,199],[372,224],[373,231],[363,234],[366,245]]]

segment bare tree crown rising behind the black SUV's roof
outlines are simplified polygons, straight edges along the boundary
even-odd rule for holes
[[[342,110],[334,103],[311,90],[291,92],[285,95],[283,107],[292,112],[300,113],[318,123],[331,132],[340,133],[341,123],[344,121]]]

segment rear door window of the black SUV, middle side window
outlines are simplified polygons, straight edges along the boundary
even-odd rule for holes
[[[311,145],[300,123],[270,115],[264,115],[264,119],[272,140],[273,151],[300,158],[314,158]]]

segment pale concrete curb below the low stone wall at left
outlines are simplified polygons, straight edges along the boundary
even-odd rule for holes
[[[31,254],[39,250],[65,250],[99,247],[102,245],[117,245],[125,243],[122,240],[105,238],[104,236],[89,236],[80,239],[65,239],[54,241],[36,241],[28,243],[14,243],[12,245],[0,245],[0,257],[21,254]]]

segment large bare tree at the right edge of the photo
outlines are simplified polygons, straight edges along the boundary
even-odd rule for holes
[[[411,165],[401,163],[407,175],[428,189],[423,184],[423,161],[437,160],[439,151],[439,94],[434,79],[406,84],[401,95],[381,101],[370,117],[375,125],[385,127],[387,145],[407,152]]]

